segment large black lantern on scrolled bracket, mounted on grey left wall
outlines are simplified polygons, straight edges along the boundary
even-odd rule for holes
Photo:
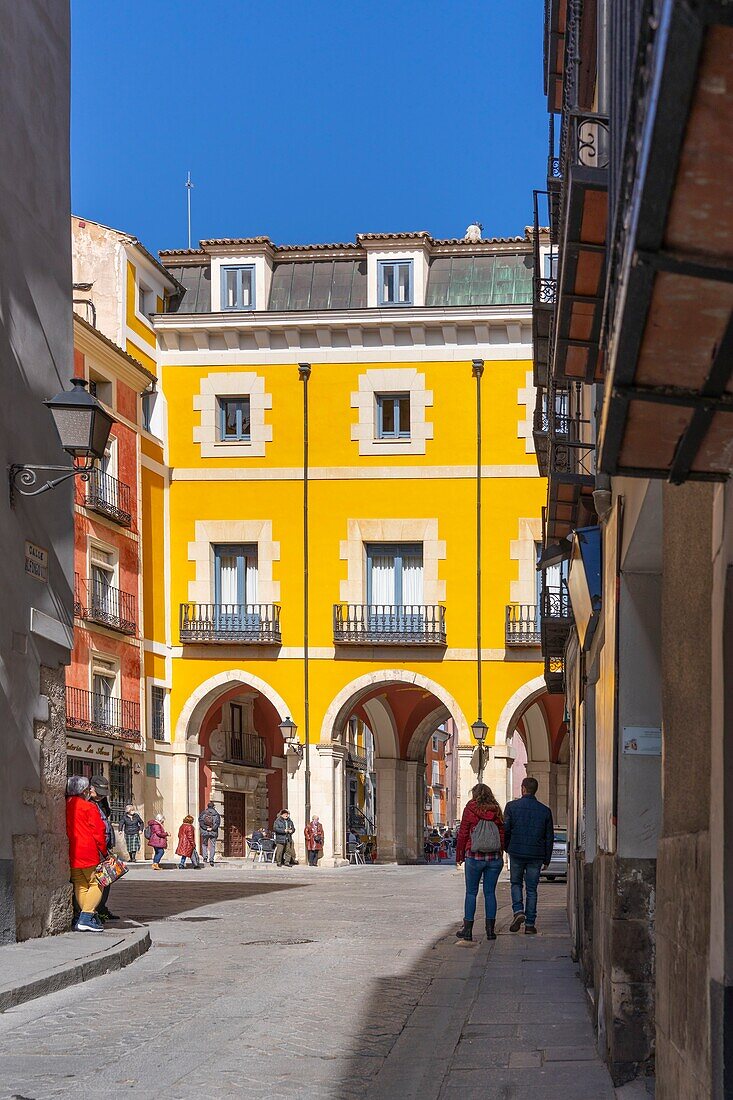
[[[72,455],[74,465],[35,466],[14,462],[8,468],[11,507],[14,505],[15,493],[22,496],[39,496],[41,493],[47,493],[50,488],[56,488],[69,477],[78,476],[83,481],[89,481],[95,462],[105,457],[107,440],[114,421],[97,398],[87,393],[85,378],[72,378],[72,389],[65,389],[43,404],[50,410],[61,446]],[[41,471],[48,473],[58,471],[62,476],[48,479],[40,488],[34,488]]]

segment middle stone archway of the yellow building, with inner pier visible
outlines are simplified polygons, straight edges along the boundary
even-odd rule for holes
[[[376,858],[380,862],[412,862],[424,854],[429,793],[426,749],[448,723],[451,732],[468,734],[466,718],[450,694],[427,678],[405,670],[363,676],[337,696],[326,714],[319,746],[321,755],[332,755],[336,761],[332,832],[337,859],[346,855],[342,837],[349,822],[353,761],[360,755],[354,732],[368,730],[373,746]]]

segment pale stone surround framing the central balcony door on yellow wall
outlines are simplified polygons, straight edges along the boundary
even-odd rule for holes
[[[438,562],[446,543],[438,538],[437,519],[350,519],[348,538],[340,543],[341,561],[349,563],[348,580],[341,581],[340,597],[347,604],[366,598],[366,542],[423,543],[423,600],[439,604],[446,598],[446,582],[438,580]]]

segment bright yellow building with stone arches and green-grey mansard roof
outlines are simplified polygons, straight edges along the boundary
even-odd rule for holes
[[[151,319],[144,648],[165,737],[147,740],[145,809],[177,822],[214,801],[233,856],[284,805],[302,837],[309,809],[338,862],[362,723],[379,858],[418,858],[425,750],[447,718],[459,803],[479,768],[479,387],[482,762],[500,799],[516,716],[544,686],[534,630],[507,628],[536,604],[545,495],[532,242],[256,238],[161,258],[185,293]]]

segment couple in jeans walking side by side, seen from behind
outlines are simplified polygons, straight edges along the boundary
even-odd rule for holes
[[[553,857],[555,828],[549,806],[537,800],[537,780],[522,783],[522,798],[507,803],[502,813],[493,792],[478,783],[463,811],[456,844],[456,866],[464,865],[466,901],[459,939],[473,938],[479,887],[483,886],[486,938],[496,938],[496,882],[510,859],[512,888],[511,932],[537,932],[537,886],[543,868]]]

